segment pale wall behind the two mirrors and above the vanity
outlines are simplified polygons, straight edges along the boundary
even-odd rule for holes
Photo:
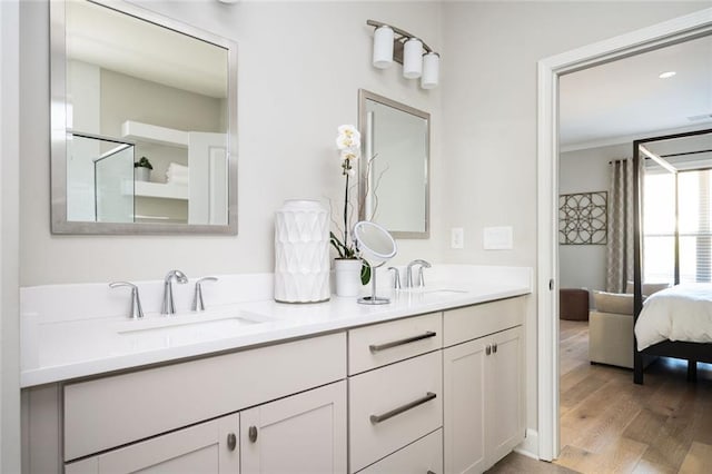
[[[171,268],[188,276],[271,271],[274,211],[295,197],[342,198],[336,129],[357,124],[358,89],[433,115],[433,206],[439,208],[441,89],[402,79],[400,67],[370,67],[369,18],[416,31],[442,49],[441,7],[413,2],[140,1],[147,8],[238,43],[237,237],[89,237],[49,231],[48,6],[22,2],[23,45],[21,283],[39,285],[157,279]],[[396,264],[439,257],[439,215],[429,240],[399,241]],[[141,253],[136,253],[141,248]]]

